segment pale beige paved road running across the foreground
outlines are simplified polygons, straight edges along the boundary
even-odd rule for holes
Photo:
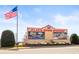
[[[50,46],[50,47],[26,47],[19,50],[0,49],[1,54],[78,54],[79,45],[74,46]]]

